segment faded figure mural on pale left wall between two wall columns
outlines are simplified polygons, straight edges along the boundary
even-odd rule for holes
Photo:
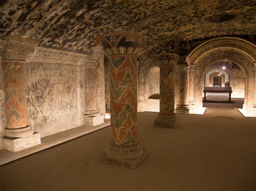
[[[76,68],[57,63],[30,63],[27,69],[30,77],[26,94],[30,97],[30,118],[35,129],[45,136],[65,126],[75,126],[78,112],[77,100],[73,98],[77,96]],[[45,128],[49,123],[56,125],[51,125],[53,129]]]

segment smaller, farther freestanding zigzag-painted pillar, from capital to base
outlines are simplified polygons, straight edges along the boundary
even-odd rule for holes
[[[175,70],[179,56],[173,53],[156,54],[160,61],[160,112],[154,121],[159,128],[177,128],[175,108]]]

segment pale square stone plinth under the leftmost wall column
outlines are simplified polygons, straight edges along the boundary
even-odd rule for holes
[[[2,143],[3,149],[17,152],[41,144],[41,136],[40,133],[34,132],[32,135],[21,138],[3,137]]]

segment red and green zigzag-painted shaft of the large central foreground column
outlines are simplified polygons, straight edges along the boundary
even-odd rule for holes
[[[111,127],[117,146],[138,144],[135,66],[132,56],[118,56],[110,60]]]

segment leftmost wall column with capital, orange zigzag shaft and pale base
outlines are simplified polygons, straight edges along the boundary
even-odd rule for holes
[[[19,151],[41,143],[40,134],[29,126],[26,111],[24,67],[35,52],[37,41],[9,36],[3,51],[5,121],[3,148]]]

